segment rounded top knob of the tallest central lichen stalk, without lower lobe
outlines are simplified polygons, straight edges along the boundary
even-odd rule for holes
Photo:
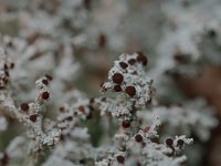
[[[152,80],[147,77],[144,71],[147,62],[141,52],[119,55],[119,60],[114,62],[108,73],[108,82],[102,86],[102,92],[120,92],[133,101],[134,107],[144,107],[151,101],[154,93]]]

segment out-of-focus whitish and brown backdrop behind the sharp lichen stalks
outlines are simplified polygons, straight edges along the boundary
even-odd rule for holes
[[[15,62],[18,103],[33,96],[42,73],[57,79],[62,92],[98,96],[113,61],[141,51],[156,87],[152,105],[182,107],[200,98],[206,106],[192,112],[209,106],[221,120],[220,0],[0,0],[0,46]],[[221,165],[221,126],[208,129],[204,139],[190,134],[189,165]],[[1,147],[6,135],[13,137],[1,133]]]

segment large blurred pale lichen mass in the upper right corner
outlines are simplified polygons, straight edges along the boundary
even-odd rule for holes
[[[220,7],[219,0],[200,3],[191,0],[187,4],[176,0],[162,2],[161,12],[167,23],[156,46],[159,55],[156,66],[191,75],[202,62],[220,64]]]

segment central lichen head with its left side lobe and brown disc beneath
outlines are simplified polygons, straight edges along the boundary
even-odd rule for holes
[[[152,80],[146,76],[144,69],[147,62],[141,52],[120,54],[109,70],[108,81],[102,86],[102,92],[110,90],[116,93],[116,98],[95,100],[102,115],[110,113],[125,131],[134,128],[134,123],[137,123],[136,111],[145,108],[152,97]]]

